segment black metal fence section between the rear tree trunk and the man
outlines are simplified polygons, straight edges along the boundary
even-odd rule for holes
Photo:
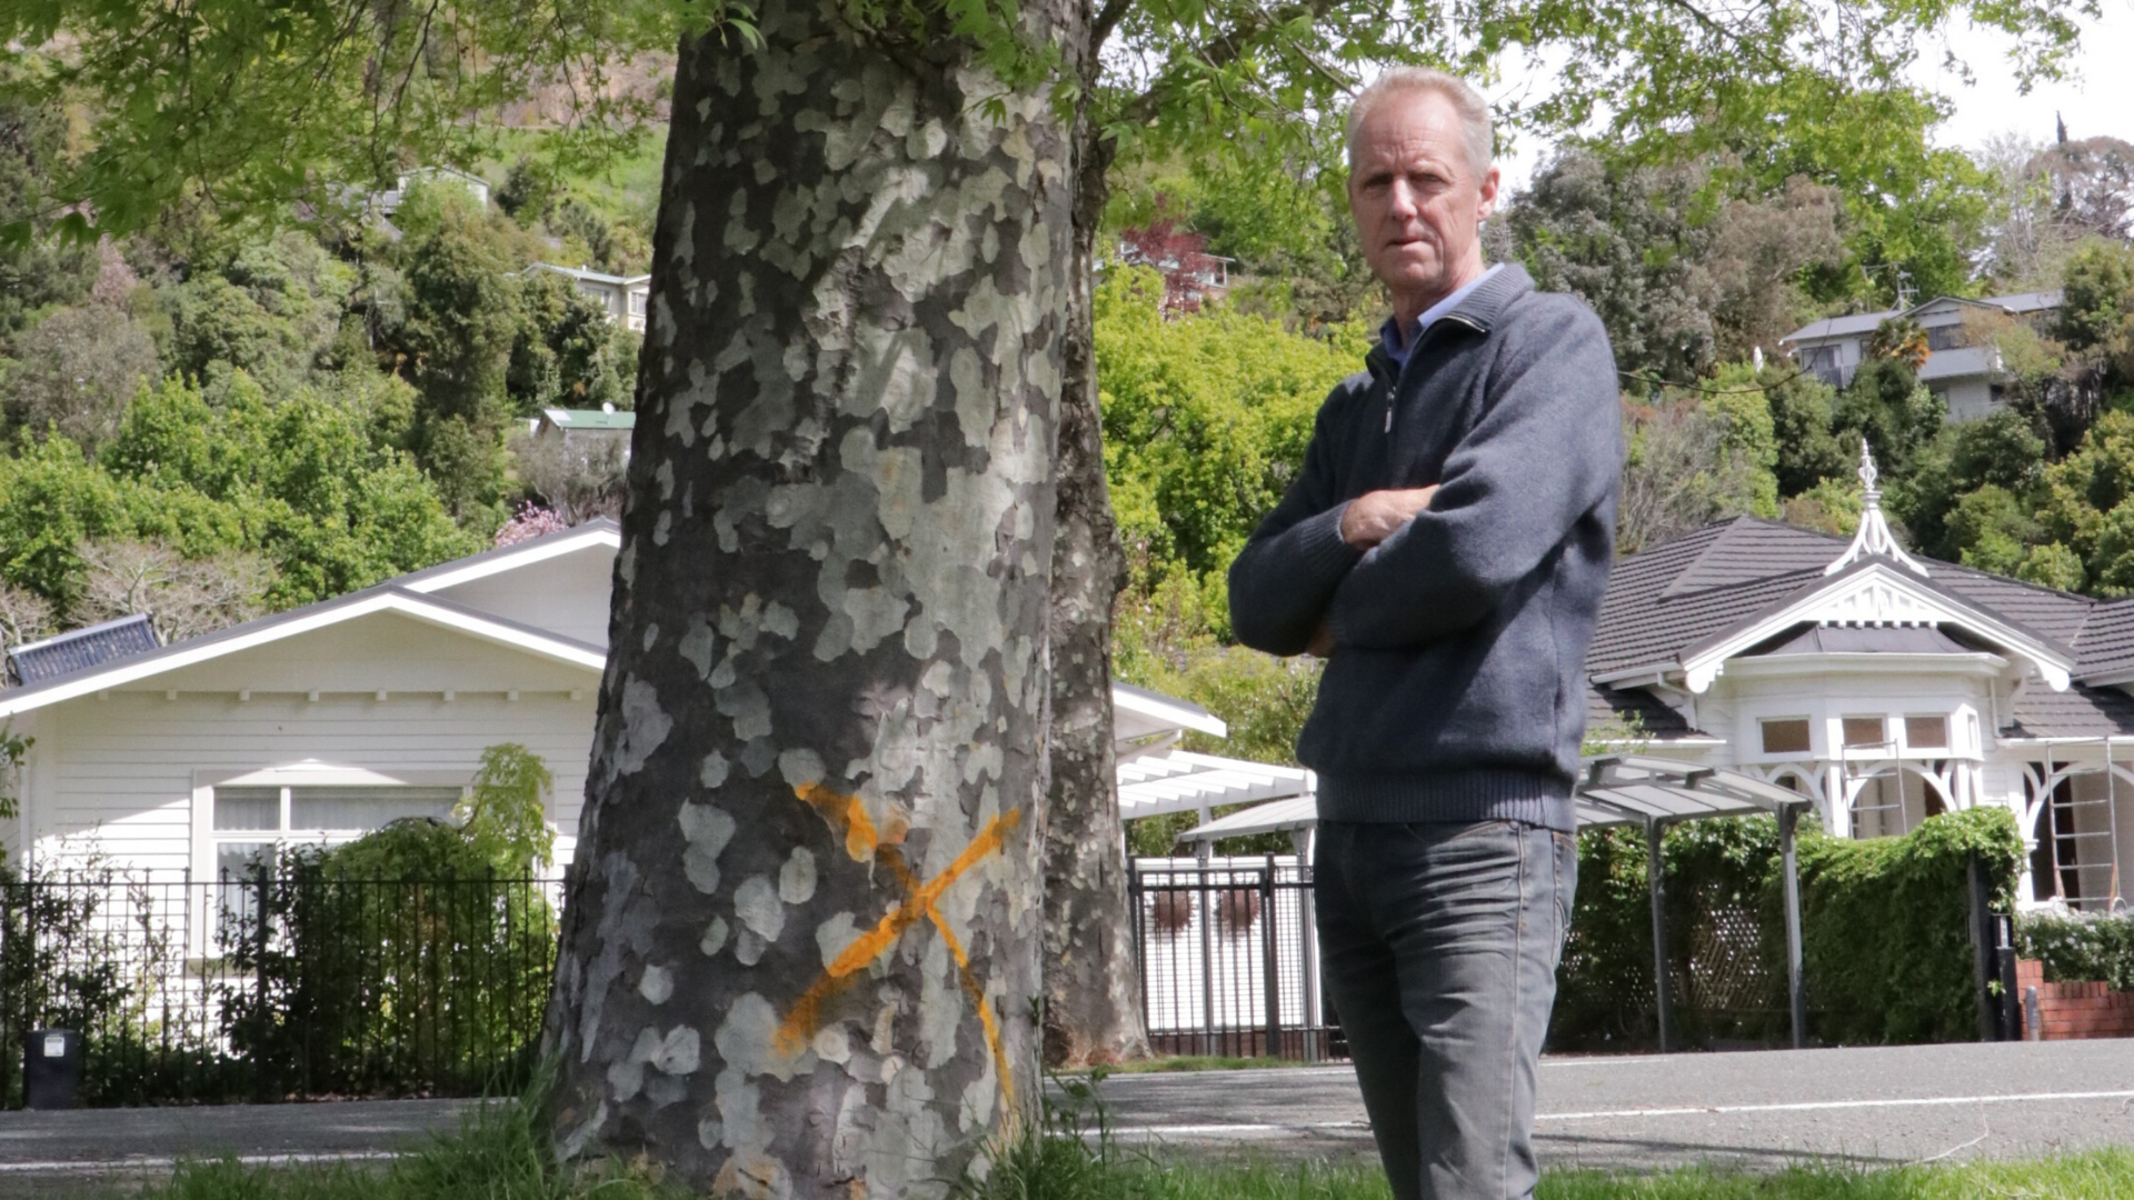
[[[1347,1057],[1319,989],[1308,865],[1135,858],[1127,878],[1150,1048]]]

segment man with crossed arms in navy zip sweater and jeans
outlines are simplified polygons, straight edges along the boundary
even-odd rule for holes
[[[1396,68],[1357,96],[1349,207],[1394,316],[1229,570],[1238,641],[1327,660],[1297,741],[1321,972],[1398,1200],[1539,1179],[1622,465],[1600,320],[1483,265],[1490,160],[1460,79]]]

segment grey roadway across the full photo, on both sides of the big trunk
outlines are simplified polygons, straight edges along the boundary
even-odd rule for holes
[[[1125,1074],[1116,1136],[1178,1153],[1370,1155],[1347,1065]],[[380,1162],[472,1102],[0,1112],[0,1196],[166,1174],[179,1157]],[[2134,1144],[2134,1040],[1562,1057],[1541,1065],[1547,1166],[1652,1170],[2029,1157]]]

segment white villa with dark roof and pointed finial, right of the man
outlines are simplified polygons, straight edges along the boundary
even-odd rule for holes
[[[2025,903],[2111,907],[2134,865],[2134,598],[1908,555],[1861,476],[1850,542],[1739,517],[1618,562],[1594,732],[1782,784],[1840,837],[2006,807]]]

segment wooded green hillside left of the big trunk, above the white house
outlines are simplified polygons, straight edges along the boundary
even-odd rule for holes
[[[642,271],[647,194],[519,158],[489,205],[440,175],[391,218],[196,209],[70,241],[47,220],[79,154],[66,120],[0,105],[9,645],[137,611],[201,634],[474,553],[512,519],[619,510],[619,459],[559,455],[529,421],[627,410],[638,335],[529,267]]]

